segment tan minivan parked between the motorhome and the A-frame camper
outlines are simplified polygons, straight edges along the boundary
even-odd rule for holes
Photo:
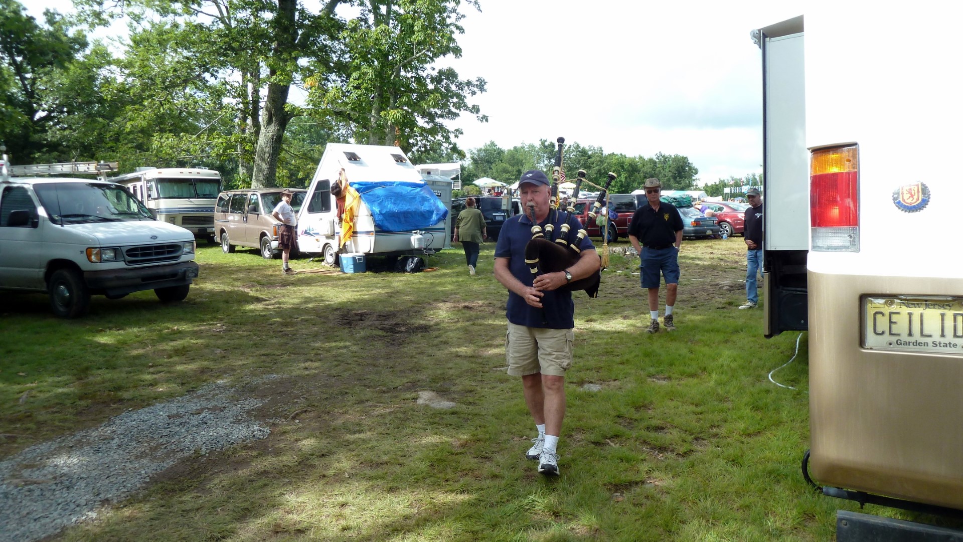
[[[291,206],[297,216],[304,203],[303,189],[284,189],[282,187],[229,190],[218,194],[214,207],[215,235],[221,242],[221,250],[233,252],[235,246],[258,248],[266,260],[277,255],[277,237],[274,224],[278,224],[271,213],[281,201],[281,192],[294,193]]]

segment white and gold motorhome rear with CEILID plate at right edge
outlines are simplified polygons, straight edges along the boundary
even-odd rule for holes
[[[804,475],[834,497],[938,513],[963,510],[961,14],[835,3],[753,32],[766,335],[808,329]],[[930,529],[837,517],[839,540]]]

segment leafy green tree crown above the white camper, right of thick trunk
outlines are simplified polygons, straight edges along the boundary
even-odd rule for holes
[[[324,116],[355,142],[402,146],[408,152],[463,155],[444,121],[462,113],[481,116],[466,97],[485,82],[459,79],[451,67],[436,66],[461,56],[455,35],[460,0],[367,0],[341,33],[344,65],[331,70],[315,63],[308,78],[312,115]],[[478,8],[476,0],[467,5]]]

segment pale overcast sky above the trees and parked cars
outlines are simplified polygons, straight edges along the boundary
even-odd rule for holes
[[[35,16],[69,0],[25,2]],[[462,78],[487,91],[465,116],[463,149],[539,139],[606,152],[688,156],[701,182],[761,172],[761,53],[749,32],[804,13],[803,2],[481,0],[465,8]]]

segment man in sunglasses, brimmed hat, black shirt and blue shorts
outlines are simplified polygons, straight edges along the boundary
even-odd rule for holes
[[[672,309],[679,288],[679,247],[682,246],[682,217],[674,205],[664,203],[659,179],[645,179],[648,205],[636,210],[629,223],[629,241],[641,259],[641,285],[649,292],[649,333],[659,331],[659,283],[665,278],[666,331],[675,331]],[[641,246],[639,246],[639,243]]]

